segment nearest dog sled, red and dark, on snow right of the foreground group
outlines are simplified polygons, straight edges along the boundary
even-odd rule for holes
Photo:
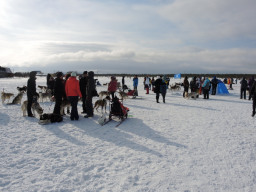
[[[125,107],[120,101],[118,97],[114,97],[112,101],[110,101],[110,110],[109,110],[109,118],[106,120],[104,116],[99,119],[99,123],[101,125],[105,125],[113,119],[118,119],[119,122],[116,125],[118,127],[123,123],[125,119],[128,117],[129,108]]]

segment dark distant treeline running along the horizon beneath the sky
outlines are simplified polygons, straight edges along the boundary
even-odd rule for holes
[[[82,74],[82,72],[81,72]],[[81,75],[78,73],[78,75]],[[52,73],[53,76],[55,76],[55,73]],[[119,73],[119,74],[95,74],[95,76],[97,77],[111,77],[111,76],[116,76],[116,77],[134,77],[135,75],[137,75],[138,77],[145,77],[145,76],[149,76],[149,77],[157,77],[157,76],[162,76],[165,75],[167,77],[174,77],[175,74],[126,74],[126,73]],[[14,73],[15,77],[29,77],[29,72],[16,72]],[[187,73],[187,74],[181,74],[181,78],[184,78],[185,76],[188,77],[209,77],[212,78],[213,76],[216,76],[217,78],[242,78],[245,77],[246,79],[251,78],[252,76],[256,77],[256,74],[213,74],[213,73],[208,73],[208,74],[202,74],[202,73]]]

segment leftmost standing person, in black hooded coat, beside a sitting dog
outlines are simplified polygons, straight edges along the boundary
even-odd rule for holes
[[[36,72],[29,73],[29,79],[27,82],[27,113],[29,117],[34,117],[31,111],[32,103],[37,101],[38,93],[36,92]]]

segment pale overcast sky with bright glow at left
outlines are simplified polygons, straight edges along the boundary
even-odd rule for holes
[[[256,0],[1,0],[14,71],[256,73]]]

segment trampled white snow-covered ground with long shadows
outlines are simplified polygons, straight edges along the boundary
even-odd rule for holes
[[[0,79],[0,88],[17,94],[26,82]],[[100,126],[100,113],[39,125],[20,105],[0,103],[0,191],[256,191],[256,119],[252,101],[239,99],[239,85],[209,100],[168,92],[157,104],[139,84],[141,97],[124,101],[129,118],[118,128]],[[52,112],[54,104],[41,106]]]

